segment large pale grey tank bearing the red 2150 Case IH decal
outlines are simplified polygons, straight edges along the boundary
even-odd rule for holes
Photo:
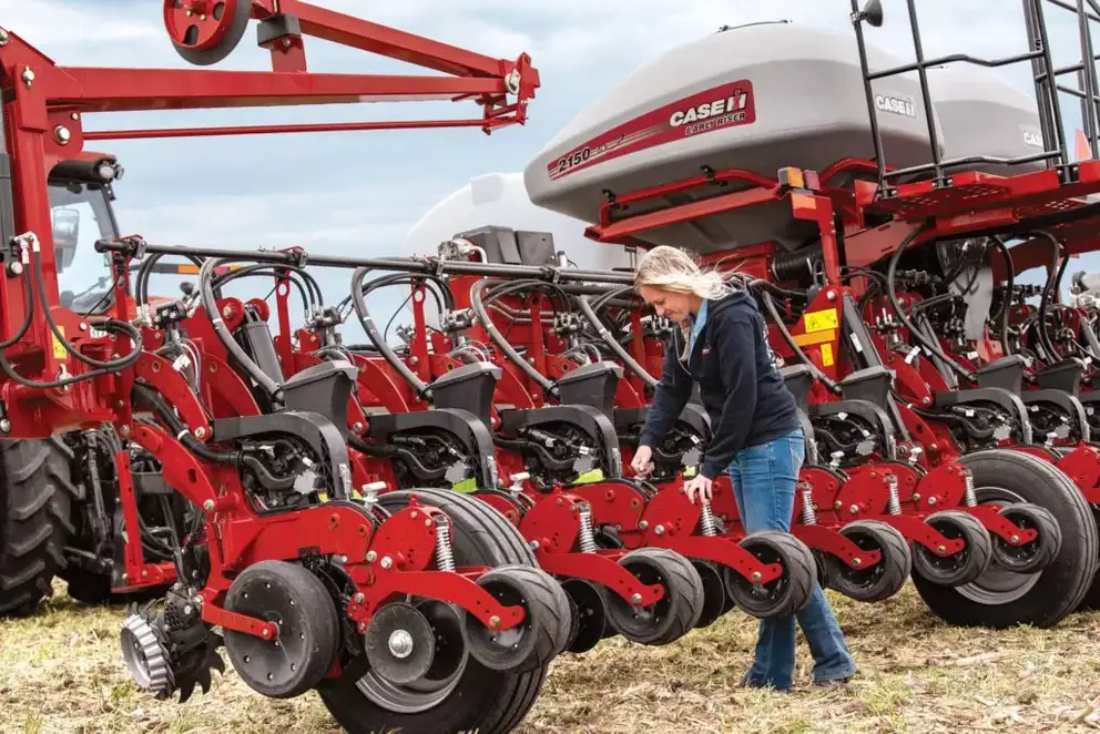
[[[872,70],[902,63],[874,47],[867,53]],[[873,90],[889,163],[929,162],[917,75],[876,80]],[[622,194],[664,184],[699,175],[704,165],[774,177],[784,166],[821,172],[842,159],[874,155],[855,35],[777,21],[723,30],[641,67],[573,119],[527,166],[524,183],[537,205],[594,223],[604,190]],[[678,193],[658,203],[740,187]],[[638,211],[644,208],[630,210]],[[640,238],[705,254],[766,241],[796,249],[815,235],[815,225],[792,220],[790,203],[781,202]]]

